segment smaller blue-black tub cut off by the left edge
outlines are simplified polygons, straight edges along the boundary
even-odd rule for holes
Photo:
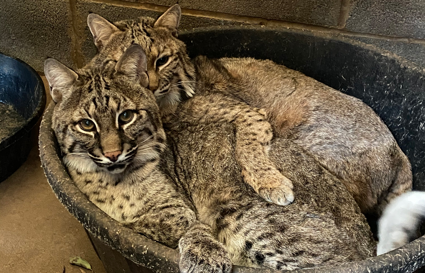
[[[25,62],[0,53],[0,103],[20,116],[19,124],[8,126],[0,137],[0,182],[14,173],[31,149],[31,129],[40,119],[46,96],[40,76]],[[2,112],[2,114],[4,114]],[[4,129],[10,119],[0,117]],[[14,121],[14,120],[12,120]]]

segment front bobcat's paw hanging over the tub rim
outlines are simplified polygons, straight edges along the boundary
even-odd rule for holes
[[[232,262],[225,246],[209,236],[183,237],[179,242],[181,273],[230,273]]]

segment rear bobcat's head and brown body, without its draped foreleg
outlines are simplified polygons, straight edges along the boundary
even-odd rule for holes
[[[147,87],[165,120],[195,90],[214,90],[265,110],[275,135],[292,139],[340,178],[363,213],[380,214],[389,200],[411,189],[408,158],[362,101],[267,60],[199,56],[192,63],[177,39],[180,16],[177,4],[158,20],[140,17],[112,24],[89,14],[99,49],[91,64],[116,61],[130,45],[142,45]]]

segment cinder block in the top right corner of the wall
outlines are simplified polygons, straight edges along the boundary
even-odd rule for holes
[[[425,0],[357,0],[349,11],[350,31],[425,39]]]

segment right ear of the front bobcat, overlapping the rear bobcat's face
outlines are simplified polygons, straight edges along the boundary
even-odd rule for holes
[[[128,76],[130,79],[139,81],[143,87],[149,85],[147,77],[147,58],[140,45],[132,45],[122,54],[115,65],[115,70]]]

